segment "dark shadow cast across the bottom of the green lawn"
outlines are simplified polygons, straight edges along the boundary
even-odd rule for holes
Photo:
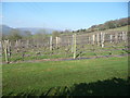
[[[112,78],[94,83],[74,84],[70,87],[53,87],[40,96],[129,96],[130,78]],[[35,96],[35,91],[21,93],[16,96]],[[10,95],[9,95],[10,96]],[[5,96],[4,96],[5,97]]]

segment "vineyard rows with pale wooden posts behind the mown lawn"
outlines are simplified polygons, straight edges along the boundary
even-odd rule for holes
[[[41,37],[40,39],[0,41],[3,63],[31,60],[73,60],[123,56],[128,50],[128,32],[108,30]]]

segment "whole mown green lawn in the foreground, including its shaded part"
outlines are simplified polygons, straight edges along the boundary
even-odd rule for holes
[[[128,58],[3,64],[3,96],[128,95]]]

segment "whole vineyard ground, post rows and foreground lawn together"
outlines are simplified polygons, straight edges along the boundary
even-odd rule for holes
[[[3,97],[129,95],[128,33],[1,40]]]

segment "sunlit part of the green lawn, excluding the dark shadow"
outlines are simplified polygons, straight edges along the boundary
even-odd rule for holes
[[[16,96],[18,94],[39,96],[53,87],[64,88],[67,86],[69,88],[74,84],[87,84],[113,77],[126,79],[128,76],[128,58],[3,64],[2,74],[3,96]],[[61,88],[62,93],[63,88]],[[52,91],[55,93],[55,90]],[[54,95],[54,93],[49,95]]]

